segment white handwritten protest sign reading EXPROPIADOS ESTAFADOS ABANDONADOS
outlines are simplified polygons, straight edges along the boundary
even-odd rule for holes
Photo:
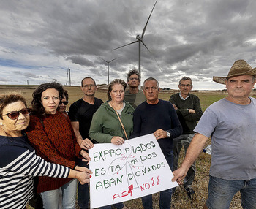
[[[95,144],[91,157],[91,208],[113,205],[178,186],[153,134],[123,145]]]

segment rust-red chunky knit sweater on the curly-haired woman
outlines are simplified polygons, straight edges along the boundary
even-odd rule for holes
[[[81,148],[68,117],[59,111],[47,114],[41,120],[37,115],[31,115],[26,134],[38,156],[46,161],[75,168],[75,156],[79,157]],[[72,179],[39,177],[37,192],[58,189],[70,180]]]

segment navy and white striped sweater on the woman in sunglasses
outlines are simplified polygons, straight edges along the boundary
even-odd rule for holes
[[[23,137],[0,136],[0,208],[25,208],[33,195],[34,177],[67,178],[69,168],[37,156]]]

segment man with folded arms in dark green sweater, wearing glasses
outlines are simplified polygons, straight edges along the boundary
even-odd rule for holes
[[[203,115],[200,100],[194,94],[189,94],[192,90],[192,80],[190,77],[182,77],[179,81],[178,88],[179,93],[170,96],[169,101],[173,104],[174,109],[178,115],[178,119],[181,122],[183,133],[173,139],[173,169],[178,167],[178,156],[181,148],[184,146],[185,152],[195,135],[193,129],[197,125],[200,117]],[[195,162],[189,168],[186,178],[184,178],[184,188],[187,191],[189,198],[192,198],[195,191],[192,189],[192,182],[195,178]],[[175,191],[175,189],[173,189]]]

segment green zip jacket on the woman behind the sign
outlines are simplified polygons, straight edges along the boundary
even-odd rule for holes
[[[134,111],[135,109],[128,102],[125,102],[124,110],[120,115],[128,138],[133,131],[132,118]],[[108,105],[108,101],[103,103],[96,113],[94,113],[91,121],[89,136],[92,140],[96,140],[99,143],[110,143],[112,137],[114,136],[123,137],[124,140],[126,140],[116,112]]]

